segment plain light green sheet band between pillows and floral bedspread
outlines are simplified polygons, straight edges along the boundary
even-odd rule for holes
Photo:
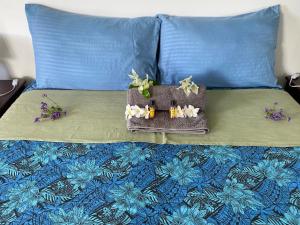
[[[55,122],[33,123],[46,92],[68,112]],[[207,135],[132,133],[126,130],[124,91],[33,90],[22,94],[0,120],[0,140],[71,143],[148,142],[232,146],[300,146],[300,107],[283,90],[208,90]],[[278,102],[292,120],[274,122],[264,109]]]

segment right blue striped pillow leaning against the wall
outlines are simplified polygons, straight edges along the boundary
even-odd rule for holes
[[[277,87],[279,5],[233,17],[158,17],[162,84],[192,75],[207,87]]]

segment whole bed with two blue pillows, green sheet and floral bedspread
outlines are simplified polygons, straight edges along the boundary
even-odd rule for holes
[[[300,224],[300,108],[274,69],[279,5],[218,18],[25,11],[39,89],[0,120],[0,224]],[[194,90],[228,88],[207,91],[208,134],[126,129],[128,86],[148,96],[148,78],[178,87],[190,75]],[[44,93],[67,116],[34,123]],[[290,121],[265,118],[274,102]]]

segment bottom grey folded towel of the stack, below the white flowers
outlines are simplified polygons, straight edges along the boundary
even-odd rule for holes
[[[171,119],[168,111],[157,111],[154,119],[133,117],[127,121],[130,131],[206,134],[207,120],[203,112],[195,118]]]

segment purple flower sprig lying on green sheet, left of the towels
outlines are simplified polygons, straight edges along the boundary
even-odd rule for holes
[[[45,101],[41,102],[41,115],[40,117],[36,117],[34,119],[34,122],[41,122],[43,120],[57,120],[61,118],[62,116],[66,116],[67,112],[63,110],[62,107],[60,107],[54,100],[52,100],[50,97],[48,97],[47,94],[42,95],[43,98],[50,101],[53,105],[49,105]]]

